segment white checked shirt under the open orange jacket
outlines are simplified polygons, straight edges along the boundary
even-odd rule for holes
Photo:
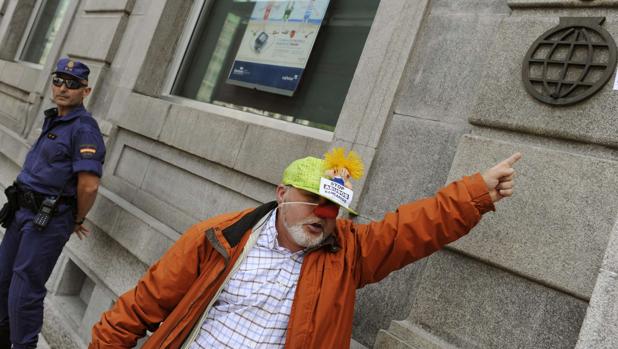
[[[284,346],[304,252],[279,246],[275,218],[276,210],[213,304],[190,349]]]

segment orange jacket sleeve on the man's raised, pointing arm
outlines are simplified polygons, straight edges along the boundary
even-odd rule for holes
[[[357,225],[355,277],[358,287],[429,256],[467,234],[494,205],[480,174],[453,182],[431,198],[400,206],[379,222]]]

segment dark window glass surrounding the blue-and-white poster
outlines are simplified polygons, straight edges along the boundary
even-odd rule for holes
[[[285,9],[312,1],[270,2],[272,13],[285,16]],[[172,94],[334,130],[379,0],[330,1],[292,97],[227,83],[255,5],[256,1],[217,0],[203,10]]]

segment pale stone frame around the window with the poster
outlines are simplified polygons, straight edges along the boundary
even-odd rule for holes
[[[167,3],[170,0],[159,1]],[[183,26],[178,28],[178,40],[167,56],[169,61],[158,57],[147,59],[149,65],[165,64],[167,71],[160,78],[151,80],[149,70],[143,70],[137,77],[134,92],[166,100],[171,105],[232,117],[246,122],[249,127],[267,127],[325,141],[333,146],[345,146],[358,151],[367,160],[369,167],[379,147],[383,130],[395,112],[398,91],[405,83],[402,81],[404,70],[409,64],[414,45],[419,40],[422,23],[429,15],[430,0],[380,0],[334,131],[170,94],[182,59],[188,53],[188,43],[195,31],[199,11],[203,6],[211,6],[213,1],[216,0],[192,1],[185,14]],[[364,183],[359,184],[361,191],[363,185]]]

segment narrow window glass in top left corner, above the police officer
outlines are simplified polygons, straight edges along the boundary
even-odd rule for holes
[[[28,36],[21,60],[44,64],[60,29],[69,0],[47,0],[41,6]]]

